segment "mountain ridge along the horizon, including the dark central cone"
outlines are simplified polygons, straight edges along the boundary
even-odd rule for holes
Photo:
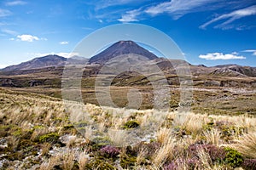
[[[175,68],[181,62],[186,62],[191,69],[193,75],[212,75],[223,77],[256,77],[256,67],[242,66],[242,65],[191,65],[189,62],[182,59],[165,59],[159,58],[155,54],[149,52],[147,49],[140,47],[136,42],[132,41],[119,41],[113,43],[110,47],[106,48],[99,54],[94,55],[90,59],[85,59],[79,56],[73,56],[71,58],[65,58],[56,54],[49,54],[44,57],[38,57],[26,62],[22,62],[19,65],[9,65],[1,69],[2,72],[9,72],[8,74],[14,74],[24,71],[40,70],[45,68],[63,67],[66,64],[70,65],[90,65],[105,64],[108,60],[111,60],[117,56],[123,54],[138,54],[143,55],[149,60],[152,60],[156,65],[160,67],[162,71],[175,72]],[[96,67],[96,66],[95,66]],[[95,72],[98,68],[94,69]]]

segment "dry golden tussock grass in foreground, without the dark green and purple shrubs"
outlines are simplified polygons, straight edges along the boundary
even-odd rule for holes
[[[23,138],[22,135],[27,132],[32,132],[31,136],[26,139],[34,142],[32,144],[38,142],[39,136],[48,133],[57,133],[60,136],[68,134],[70,136],[67,139],[66,151],[63,152],[52,151],[53,149],[50,149],[51,145],[49,145],[51,143],[40,145],[39,149],[41,149],[40,153],[43,157],[39,161],[40,169],[52,169],[55,165],[61,165],[63,169],[71,169],[76,164],[74,162],[78,162],[79,169],[84,169],[90,164],[90,161],[97,159],[97,156],[100,155],[100,148],[96,150],[95,145],[90,141],[99,134],[107,136],[110,144],[121,147],[121,153],[116,159],[122,159],[122,156],[127,156],[125,146],[131,144],[129,132],[137,129],[124,128],[125,122],[130,120],[137,121],[139,123],[138,128],[143,129],[143,132],[138,132],[139,134],[150,133],[152,135],[151,139],[144,142],[145,144],[160,144],[151,156],[146,156],[146,150],[139,150],[136,154],[135,166],[131,168],[160,169],[179,158],[189,159],[191,158],[188,154],[189,145],[200,142],[217,146],[229,145],[241,152],[243,156],[256,158],[256,117],[254,116],[217,116],[189,113],[183,124],[177,126],[173,123],[177,112],[137,111],[90,104],[79,105],[75,102],[63,105],[59,99],[4,90],[0,91],[0,104],[0,120],[3,122],[1,128],[8,129],[9,144],[13,144],[10,146],[14,150],[17,150],[17,146]],[[86,126],[76,127],[79,126],[77,123],[81,122],[85,123]],[[226,132],[217,126],[217,122],[227,122],[223,127],[232,129],[231,132],[228,132],[230,136],[227,139],[223,137]],[[3,134],[1,138],[5,138],[6,132],[1,128],[0,133]],[[84,141],[89,142],[84,144]],[[60,146],[56,144],[55,148],[58,147]],[[79,147],[85,151],[73,151]],[[131,147],[131,149],[133,148]],[[55,154],[49,155],[49,150]],[[199,151],[198,157],[203,169],[224,169],[222,165],[213,165],[203,150]],[[151,165],[143,165],[145,159],[151,162]],[[104,161],[115,165],[111,159],[104,158]],[[189,169],[189,164],[186,162],[179,163],[178,167]]]

